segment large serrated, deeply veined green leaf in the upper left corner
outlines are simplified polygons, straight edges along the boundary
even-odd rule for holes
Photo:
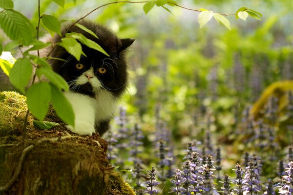
[[[0,13],[0,27],[12,40],[20,40],[27,45],[35,35],[35,28],[21,13],[15,10],[3,10]]]

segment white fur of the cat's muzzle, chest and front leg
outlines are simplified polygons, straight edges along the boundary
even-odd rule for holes
[[[87,76],[92,78],[88,79]],[[91,83],[93,86],[95,98],[73,92],[64,93],[71,103],[75,114],[75,127],[67,125],[67,128],[73,133],[91,136],[96,132],[96,124],[98,125],[100,121],[114,116],[117,108],[117,99],[102,88],[102,84],[94,76],[92,68],[77,78],[75,84],[81,85],[86,82]],[[97,126],[97,128],[99,127]]]

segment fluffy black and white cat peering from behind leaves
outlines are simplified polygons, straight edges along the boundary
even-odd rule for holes
[[[70,32],[82,33],[86,38],[98,43],[110,57],[82,45],[83,52],[77,61],[66,50],[57,46],[51,57],[61,58],[66,62],[50,59],[53,70],[60,74],[68,83],[70,92],[65,96],[72,104],[75,114],[75,127],[67,128],[80,135],[92,135],[95,132],[102,135],[109,128],[117,107],[117,100],[123,95],[128,82],[125,54],[134,39],[119,39],[102,25],[82,20],[79,22],[93,31],[99,39],[76,26]],[[62,35],[66,28],[62,30]],[[59,42],[60,36],[51,40]]]

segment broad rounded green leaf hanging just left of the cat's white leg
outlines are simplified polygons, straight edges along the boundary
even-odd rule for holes
[[[30,86],[26,93],[28,109],[34,117],[43,120],[49,108],[51,89],[47,82],[38,82]]]

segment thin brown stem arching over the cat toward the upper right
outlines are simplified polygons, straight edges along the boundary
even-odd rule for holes
[[[90,15],[91,13],[93,13],[94,11],[96,11],[97,9],[100,9],[102,7],[105,7],[107,5],[111,5],[111,4],[117,4],[117,3],[147,3],[147,2],[150,2],[148,0],[144,0],[144,1],[128,1],[128,0],[123,0],[123,1],[115,1],[115,2],[110,2],[110,3],[105,3],[95,9],[93,9],[92,11],[88,12],[86,15],[84,15],[82,18],[76,20],[75,22],[73,22],[70,27],[65,31],[65,33],[63,34],[63,36],[61,37],[64,38],[65,34],[77,23],[79,22],[80,20],[83,20],[85,17],[87,17],[88,15]],[[172,4],[174,6],[177,6],[177,7],[180,7],[182,9],[186,9],[186,10],[189,10],[189,11],[195,11],[195,12],[202,12],[202,10],[200,9],[191,9],[191,8],[188,8],[188,7],[184,7],[184,6],[181,6],[181,5],[178,5],[177,3],[174,3],[174,2],[170,2],[170,1],[167,1],[168,4]],[[39,13],[40,14],[40,13]],[[223,16],[230,16],[230,15],[235,15],[235,14],[222,14],[222,13],[219,13]],[[40,22],[40,20],[39,20]],[[47,54],[47,59],[49,58],[50,54],[54,51],[54,49],[56,48],[56,45],[53,46],[52,50]]]

